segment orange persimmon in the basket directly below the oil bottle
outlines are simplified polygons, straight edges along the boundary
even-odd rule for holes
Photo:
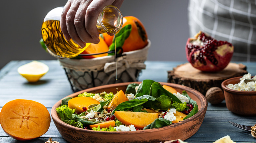
[[[107,43],[99,36],[99,43],[94,44],[91,43],[88,48],[86,48],[81,54],[97,54],[97,53],[104,53],[108,52],[108,45]],[[90,55],[90,56],[82,56],[82,58],[95,58],[101,56],[108,56],[108,53],[99,54],[99,55]]]

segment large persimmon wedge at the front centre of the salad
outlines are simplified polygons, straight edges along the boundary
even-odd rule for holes
[[[158,113],[116,111],[116,118],[125,125],[133,124],[138,129],[143,129],[158,118]]]

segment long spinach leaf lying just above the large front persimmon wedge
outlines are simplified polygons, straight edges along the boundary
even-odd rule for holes
[[[115,111],[128,111],[130,108],[139,106],[145,102],[147,102],[147,99],[133,99],[130,101],[125,101],[117,105],[117,107],[112,111],[111,115],[115,113]]]

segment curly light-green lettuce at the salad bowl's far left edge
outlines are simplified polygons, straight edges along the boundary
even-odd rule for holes
[[[56,112],[59,114],[60,119],[69,120],[72,119],[75,109],[72,110],[65,104],[56,108]]]

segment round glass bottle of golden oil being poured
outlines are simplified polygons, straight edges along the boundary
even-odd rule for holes
[[[71,58],[82,53],[86,47],[80,47],[72,39],[67,41],[60,29],[60,16],[63,7],[54,8],[47,13],[42,24],[42,38],[48,50],[58,57]],[[99,34],[105,32],[116,33],[123,24],[123,16],[115,6],[106,6],[98,16],[96,27]]]

